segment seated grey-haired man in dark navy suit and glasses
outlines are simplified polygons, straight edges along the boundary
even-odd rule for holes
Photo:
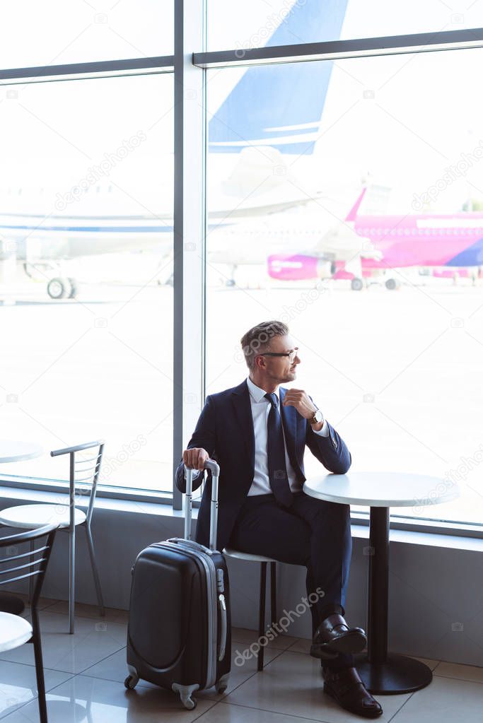
[[[310,654],[320,658],[324,690],[346,710],[374,718],[382,708],[364,687],[353,657],[367,638],[343,617],[351,562],[350,508],[302,491],[306,445],[335,474],[348,471],[351,454],[304,390],[280,386],[295,380],[300,363],[286,325],[262,322],[241,343],[249,376],[206,398],[176,471],[176,486],[185,491],[187,466],[199,470],[193,479],[197,489],[205,461],[218,461],[217,548],[307,566]],[[207,546],[210,499],[208,474],[196,532],[197,542]]]

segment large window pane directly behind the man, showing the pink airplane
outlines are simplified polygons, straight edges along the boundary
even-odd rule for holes
[[[480,56],[208,75],[207,393],[247,375],[248,328],[285,321],[301,349],[292,386],[341,433],[353,470],[461,487],[456,502],[415,500],[393,513],[474,523],[483,513]],[[320,473],[309,453],[306,471]]]

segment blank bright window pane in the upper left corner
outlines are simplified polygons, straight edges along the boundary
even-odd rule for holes
[[[173,53],[174,0],[2,3],[0,68]]]

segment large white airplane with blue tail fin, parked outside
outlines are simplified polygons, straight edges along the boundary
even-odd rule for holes
[[[305,42],[338,39],[348,1],[294,3],[267,45],[290,44],[301,37]],[[234,247],[224,247],[223,252],[226,234],[231,236],[233,230],[227,232],[228,226],[255,223],[321,195],[315,181],[304,179],[303,190],[302,184],[294,183],[285,154],[307,158],[312,154],[332,66],[328,61],[249,67],[210,119],[208,258],[213,254],[213,259],[231,265],[228,286],[234,285],[240,262],[236,233]],[[64,204],[64,208],[46,208],[45,199],[51,196],[46,188],[37,189],[36,194],[26,187],[0,192],[0,265],[13,257],[27,275],[40,272],[48,278],[52,299],[63,299],[77,296],[77,281],[64,273],[70,260],[145,249],[157,249],[169,259],[173,249],[169,181],[153,194],[149,174],[141,171],[140,177],[133,197],[153,213],[140,214],[140,205],[129,202],[108,179],[88,188],[78,205]],[[149,203],[145,193],[153,198]],[[160,199],[166,208],[159,208]],[[275,248],[280,250],[280,244]],[[260,262],[260,244],[255,258]],[[166,278],[166,283],[172,283],[172,278]]]

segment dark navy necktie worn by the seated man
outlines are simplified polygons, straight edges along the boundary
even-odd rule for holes
[[[285,444],[283,442],[282,418],[278,412],[278,397],[275,393],[266,393],[265,397],[272,405],[267,423],[268,479],[275,500],[284,507],[290,507],[292,494],[288,484],[285,464]]]

